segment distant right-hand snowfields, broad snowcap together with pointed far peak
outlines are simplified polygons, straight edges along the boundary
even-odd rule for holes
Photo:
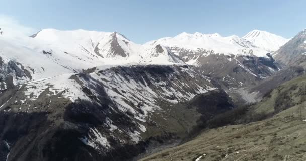
[[[188,34],[184,32],[175,37],[161,38],[156,41],[147,42],[146,44],[161,44],[166,47],[179,47],[191,51],[202,49],[209,51],[205,53],[206,56],[210,53],[215,53],[255,55],[259,57],[277,50],[287,41],[287,39],[280,36],[265,31],[254,30],[242,38],[236,35],[222,37],[218,33],[202,34],[196,32],[194,34]]]

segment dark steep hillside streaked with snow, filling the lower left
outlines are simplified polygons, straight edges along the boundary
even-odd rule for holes
[[[0,96],[2,156],[8,160],[100,160],[113,155],[115,160],[127,159],[151,144],[187,137],[201,117],[233,107],[226,105],[226,97],[222,105],[215,100],[226,96],[218,91],[207,93],[214,100],[211,110],[175,105],[213,89],[209,78],[187,65],[139,64],[101,66],[12,85]]]

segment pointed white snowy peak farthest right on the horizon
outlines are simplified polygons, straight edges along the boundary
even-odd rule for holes
[[[286,42],[290,40],[260,30],[252,30],[242,38],[250,41],[255,46],[265,49],[271,53],[278,50],[282,45],[284,45]]]

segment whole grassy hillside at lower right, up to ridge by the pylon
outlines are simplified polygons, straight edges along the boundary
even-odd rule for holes
[[[250,115],[244,116],[246,120],[252,115],[271,118],[209,129],[141,160],[304,160],[306,144],[301,142],[306,131],[299,108],[305,83],[305,76],[283,83],[249,107]]]

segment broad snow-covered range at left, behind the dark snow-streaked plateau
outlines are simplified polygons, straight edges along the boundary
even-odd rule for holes
[[[0,57],[6,71],[2,77],[11,74],[15,85],[103,65],[185,65],[161,45],[138,45],[117,32],[85,30],[44,29],[31,37],[1,36]]]

